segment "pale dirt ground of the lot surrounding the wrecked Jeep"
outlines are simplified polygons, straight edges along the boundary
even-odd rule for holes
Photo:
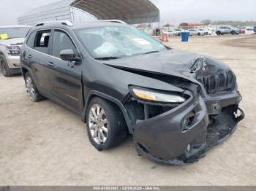
[[[185,166],[139,157],[131,137],[120,147],[97,152],[80,116],[52,101],[31,103],[22,77],[0,74],[0,185],[256,185],[255,42],[256,35],[167,43],[225,61],[244,96],[246,119],[233,136],[199,163]]]

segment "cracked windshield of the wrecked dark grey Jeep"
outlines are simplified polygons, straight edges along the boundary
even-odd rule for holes
[[[133,27],[102,27],[75,31],[94,58],[124,58],[168,50],[148,34]]]

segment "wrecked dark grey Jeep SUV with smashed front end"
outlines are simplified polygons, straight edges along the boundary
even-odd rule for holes
[[[31,101],[49,98],[80,114],[99,151],[131,133],[139,155],[195,163],[244,119],[227,65],[117,21],[39,23],[21,61]]]

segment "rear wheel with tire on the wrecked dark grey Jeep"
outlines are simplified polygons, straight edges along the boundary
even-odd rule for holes
[[[42,95],[40,95],[39,91],[37,90],[37,87],[30,76],[29,72],[25,74],[25,83],[26,83],[26,92],[29,96],[29,99],[33,102],[41,101]]]

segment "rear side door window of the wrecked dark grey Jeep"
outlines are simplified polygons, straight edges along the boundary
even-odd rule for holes
[[[50,47],[49,45],[50,45],[50,30],[38,31],[35,39],[34,50],[48,54],[49,47]]]

